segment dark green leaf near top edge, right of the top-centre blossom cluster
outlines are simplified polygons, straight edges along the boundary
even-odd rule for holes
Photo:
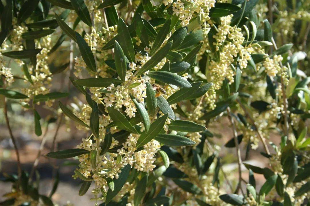
[[[228,16],[239,11],[241,8],[235,4],[230,3],[215,3],[215,7],[210,9],[210,17],[217,18],[221,16]]]

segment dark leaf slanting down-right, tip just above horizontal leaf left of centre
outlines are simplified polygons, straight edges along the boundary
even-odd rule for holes
[[[75,37],[78,43],[78,48],[80,49],[81,55],[83,60],[85,61],[85,64],[93,71],[96,72],[96,63],[93,53],[91,52],[91,48],[88,46],[86,41],[83,39],[83,37],[78,33],[75,32]]]

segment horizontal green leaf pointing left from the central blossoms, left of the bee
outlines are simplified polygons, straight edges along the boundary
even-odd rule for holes
[[[74,81],[78,85],[87,87],[105,87],[111,84],[120,84],[122,80],[116,78],[88,78],[88,79],[78,79]]]

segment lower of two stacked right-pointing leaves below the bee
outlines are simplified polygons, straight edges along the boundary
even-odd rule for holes
[[[158,134],[155,137],[155,140],[170,147],[190,146],[196,144],[196,142],[187,137],[174,134]]]

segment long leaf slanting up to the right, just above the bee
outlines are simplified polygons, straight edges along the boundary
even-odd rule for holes
[[[154,66],[156,66],[162,59],[166,56],[166,54],[170,51],[172,41],[168,42],[165,46],[163,46],[160,50],[157,51],[153,55],[153,57],[148,60],[138,71],[136,76],[139,76],[143,74],[144,72],[147,72],[148,70],[152,69]]]

